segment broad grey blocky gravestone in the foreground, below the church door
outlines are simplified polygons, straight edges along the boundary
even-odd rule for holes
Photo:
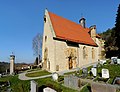
[[[64,76],[64,85],[77,89],[80,87],[80,79],[73,75]]]

